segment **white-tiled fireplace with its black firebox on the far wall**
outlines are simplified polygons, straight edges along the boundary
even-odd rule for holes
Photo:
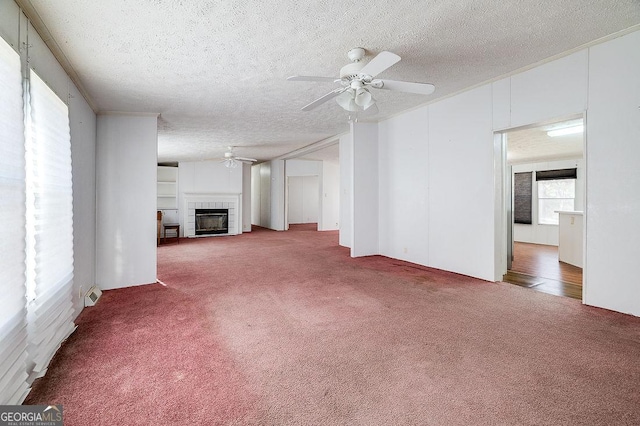
[[[183,229],[185,237],[208,237],[220,235],[237,235],[240,234],[240,194],[184,194],[184,216]],[[208,229],[216,228],[215,232],[196,232],[196,222],[199,221],[202,227],[203,212],[227,212],[226,215],[226,231],[220,231],[219,225],[207,225]],[[198,215],[198,219],[196,219]],[[207,220],[213,223],[213,218]]]

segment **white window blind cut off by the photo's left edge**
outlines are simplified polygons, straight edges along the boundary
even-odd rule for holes
[[[0,93],[0,404],[19,404],[28,392],[22,75],[1,38]]]

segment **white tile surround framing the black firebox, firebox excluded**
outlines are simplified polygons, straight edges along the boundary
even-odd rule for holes
[[[229,193],[206,193],[206,192],[185,192],[182,194],[184,203],[183,229],[184,236],[210,237],[223,235],[237,235],[242,233],[242,204],[240,203],[242,194]],[[229,233],[196,235],[195,209],[229,209]]]

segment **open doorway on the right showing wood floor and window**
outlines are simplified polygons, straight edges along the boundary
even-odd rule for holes
[[[583,117],[511,129],[501,139],[507,226],[502,280],[581,300]]]

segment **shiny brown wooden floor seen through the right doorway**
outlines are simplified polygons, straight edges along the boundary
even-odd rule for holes
[[[503,281],[557,296],[582,299],[582,268],[558,261],[558,247],[514,243]]]

